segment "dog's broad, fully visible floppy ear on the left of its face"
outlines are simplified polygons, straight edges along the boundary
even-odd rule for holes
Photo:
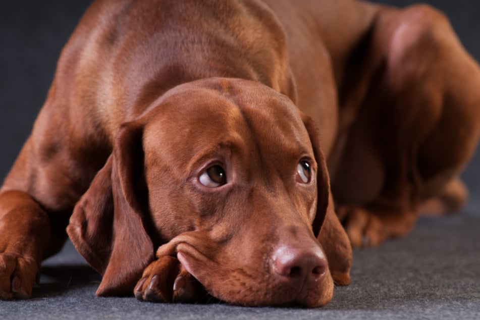
[[[143,126],[124,124],[113,152],[74,208],[67,232],[103,278],[96,294],[131,294],[153,260],[151,238],[138,201],[143,176]]]

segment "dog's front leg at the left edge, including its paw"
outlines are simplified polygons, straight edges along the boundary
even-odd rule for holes
[[[47,100],[0,189],[3,299],[31,295],[42,259],[62,248],[73,206],[97,170],[91,165],[81,166],[81,161],[98,156],[90,157],[86,148],[80,155],[72,153],[73,142],[67,141],[71,135],[65,133],[69,130],[68,119],[55,102]]]

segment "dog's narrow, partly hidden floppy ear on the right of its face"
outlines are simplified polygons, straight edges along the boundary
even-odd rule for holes
[[[310,136],[310,141],[318,165],[317,172],[317,206],[312,223],[313,233],[327,255],[329,269],[333,280],[338,285],[350,283],[352,265],[352,246],[334,209],[327,163],[321,148],[320,134],[313,119],[302,114],[302,120]]]

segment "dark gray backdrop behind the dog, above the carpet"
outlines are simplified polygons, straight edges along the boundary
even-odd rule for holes
[[[334,1],[334,0],[332,0]],[[412,0],[384,0],[397,6]],[[60,50],[91,1],[5,0],[0,5],[0,180],[8,173],[43,104]],[[445,11],[480,60],[480,2],[430,0]],[[480,180],[480,175],[476,175]]]

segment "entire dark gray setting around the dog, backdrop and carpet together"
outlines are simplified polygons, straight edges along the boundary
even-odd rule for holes
[[[413,3],[382,2],[397,6]],[[89,3],[5,0],[0,4],[0,179],[30,133],[60,50]],[[427,3],[447,13],[465,47],[480,60],[480,2]],[[460,215],[421,219],[406,238],[379,248],[354,250],[352,284],[336,288],[332,302],[321,309],[169,305],[140,303],[132,297],[97,298],[94,292],[99,276],[67,243],[60,255],[44,263],[41,284],[34,288],[31,300],[0,301],[0,318],[478,319],[479,166],[480,157],[475,156],[463,175],[471,199]]]

